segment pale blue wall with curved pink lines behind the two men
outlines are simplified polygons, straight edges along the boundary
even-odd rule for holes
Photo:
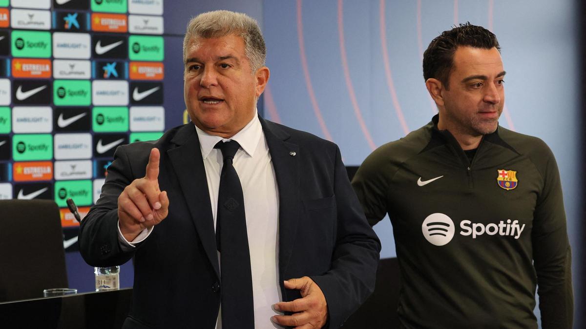
[[[507,71],[499,124],[539,136],[558,162],[580,325],[578,9],[570,0],[264,1],[271,68],[265,116],[338,143],[346,165],[360,165],[373,149],[427,124],[437,111],[421,68],[430,41],[466,21],[492,30]],[[381,257],[396,256],[388,218],[374,228]]]

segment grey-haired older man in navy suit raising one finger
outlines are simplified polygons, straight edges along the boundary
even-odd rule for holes
[[[338,146],[258,116],[270,73],[248,16],[193,18],[183,60],[192,123],[117,149],[84,259],[134,257],[125,328],[339,327],[374,289],[380,242]]]

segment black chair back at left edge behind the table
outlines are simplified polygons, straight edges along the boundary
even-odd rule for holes
[[[0,302],[66,288],[59,208],[51,200],[0,200]]]

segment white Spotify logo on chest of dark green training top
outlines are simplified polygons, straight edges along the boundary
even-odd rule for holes
[[[518,220],[506,220],[496,223],[482,224],[464,220],[460,222],[459,233],[464,237],[472,236],[477,239],[481,235],[500,235],[501,237],[512,237],[519,239],[525,229],[525,224]],[[445,214],[435,213],[429,215],[421,225],[423,236],[432,245],[442,246],[448,244],[454,238],[454,221]]]

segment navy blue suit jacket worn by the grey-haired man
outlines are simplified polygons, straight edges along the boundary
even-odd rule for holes
[[[350,186],[338,146],[260,121],[279,191],[282,297],[301,297],[298,290],[285,289],[283,280],[311,277],[325,294],[329,327],[337,328],[374,289],[379,239]],[[118,242],[117,199],[124,187],[144,177],[152,148],[161,151],[159,187],[168,193],[169,215],[137,248],[124,252]],[[222,289],[209,200],[193,124],[116,150],[101,197],[81,222],[79,243],[91,266],[121,265],[134,257],[125,328],[214,327]]]

